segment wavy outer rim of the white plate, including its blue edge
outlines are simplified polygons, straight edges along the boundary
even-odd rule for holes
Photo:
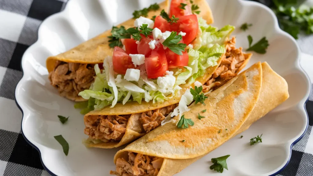
[[[18,100],[17,100],[16,94],[17,94],[17,91],[18,91],[18,85],[20,84],[20,82],[23,80],[23,77],[24,77],[24,71],[23,71],[23,67],[22,67],[24,55],[25,55],[25,53],[27,53],[28,49],[29,49],[31,46],[35,45],[35,44],[40,40],[40,38],[39,38],[39,29],[41,28],[42,24],[43,24],[46,20],[48,20],[48,19],[50,19],[50,18],[54,18],[55,16],[58,16],[58,15],[62,15],[62,13],[65,11],[65,9],[67,9],[68,3],[71,2],[71,1],[74,1],[74,0],[69,0],[68,2],[66,2],[65,8],[64,8],[62,11],[50,15],[49,17],[47,17],[46,19],[44,19],[44,20],[41,22],[41,24],[39,25],[38,31],[37,31],[37,37],[38,37],[38,39],[36,40],[36,42],[34,42],[32,45],[30,45],[30,46],[27,48],[27,50],[23,53],[23,56],[22,56],[22,59],[21,59],[21,62],[20,62],[20,67],[21,67],[21,71],[22,71],[22,78],[18,81],[18,83],[17,83],[17,85],[16,85],[16,87],[15,87],[15,91],[14,91],[14,101],[15,101],[15,104],[17,105],[18,109],[20,109],[20,111],[22,112],[21,134],[23,135],[23,137],[24,137],[24,139],[27,141],[27,143],[28,143],[29,145],[31,145],[32,147],[34,147],[34,148],[39,152],[40,162],[41,162],[41,164],[42,164],[44,170],[46,170],[46,171],[47,171],[50,175],[52,175],[52,176],[58,176],[58,175],[56,175],[55,173],[53,173],[52,171],[50,171],[50,170],[48,169],[48,167],[45,166],[45,164],[44,164],[44,162],[43,162],[43,160],[42,160],[42,155],[41,155],[40,149],[39,149],[35,144],[33,144],[32,142],[30,142],[30,141],[28,140],[28,138],[25,136],[24,132],[23,132],[23,127],[22,127],[22,126],[23,126],[24,112],[23,112],[23,109],[21,108],[21,106],[18,104]],[[297,56],[297,58],[296,58],[295,61],[296,61],[296,63],[297,63],[298,66],[299,66],[299,71],[301,71],[301,72],[305,75],[306,81],[309,83],[309,88],[307,89],[307,90],[309,90],[309,91],[305,94],[304,98],[299,101],[299,103],[300,103],[301,101],[305,100],[305,97],[306,97],[306,95],[307,95],[307,98],[306,98],[305,102],[303,103],[304,112],[305,112],[306,118],[307,118],[307,124],[306,124],[305,130],[303,131],[303,133],[301,134],[301,136],[299,136],[295,141],[293,141],[293,142],[290,144],[290,154],[289,154],[289,158],[288,158],[287,162],[285,163],[285,165],[284,165],[282,168],[280,168],[278,171],[276,171],[275,173],[269,175],[269,176],[275,176],[275,175],[277,175],[278,173],[280,173],[282,170],[284,170],[284,169],[287,167],[287,165],[289,164],[289,162],[290,162],[290,160],[291,160],[292,147],[293,147],[298,141],[300,141],[300,140],[302,139],[302,137],[305,135],[305,133],[306,133],[306,131],[307,131],[307,129],[308,129],[308,126],[309,126],[309,116],[308,116],[307,110],[306,110],[306,108],[305,108],[305,105],[306,105],[306,103],[309,101],[309,95],[310,95],[310,93],[312,93],[312,86],[311,86],[312,84],[311,84],[311,80],[310,80],[309,77],[308,77],[308,74],[305,72],[305,70],[304,70],[304,69],[302,68],[302,66],[300,65],[300,59],[301,59],[301,53],[302,53],[302,52],[301,52],[301,50],[300,50],[300,48],[299,48],[299,46],[298,46],[298,43],[296,42],[296,40],[295,40],[291,35],[289,35],[289,34],[286,33],[285,31],[283,31],[282,29],[280,29],[280,27],[279,27],[279,25],[278,25],[278,19],[277,19],[277,17],[275,16],[274,12],[273,12],[272,10],[270,10],[269,7],[265,6],[265,5],[262,4],[262,3],[258,3],[258,2],[255,2],[255,1],[244,1],[244,0],[237,0],[237,1],[238,1],[239,3],[250,3],[250,4],[252,4],[252,5],[260,6],[260,7],[264,8],[265,10],[267,10],[267,11],[273,16],[274,22],[275,22],[275,30],[276,30],[276,32],[283,33],[284,35],[287,35],[287,37],[289,37],[291,40],[293,40],[293,42],[296,44],[296,47],[297,47],[297,50],[298,50],[298,56]],[[301,110],[301,109],[300,109],[300,110]]]

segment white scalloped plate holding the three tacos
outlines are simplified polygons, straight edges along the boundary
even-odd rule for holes
[[[28,48],[22,59],[23,78],[16,87],[16,101],[23,111],[22,132],[41,153],[45,169],[52,175],[109,175],[115,169],[113,156],[120,148],[86,148],[83,115],[74,109],[74,102],[60,97],[48,80],[45,60],[64,52],[101,32],[132,17],[135,9],[149,6],[146,0],[70,0],[61,13],[44,20],[38,41]],[[214,25],[237,27],[237,46],[248,47],[247,35],[255,41],[263,36],[269,40],[265,55],[255,54],[249,67],[257,61],[269,65],[289,85],[290,98],[249,130],[227,141],[218,149],[193,163],[177,175],[272,175],[280,172],[290,160],[291,147],[307,129],[304,109],[310,93],[310,81],[299,65],[300,50],[296,41],[279,29],[275,14],[264,5],[240,0],[208,0],[215,18]],[[246,32],[238,28],[248,22]],[[62,125],[57,115],[70,116]],[[263,142],[249,146],[249,139],[263,133]],[[69,143],[69,155],[53,136],[62,134]],[[211,158],[230,154],[228,169],[216,173],[209,169]]]

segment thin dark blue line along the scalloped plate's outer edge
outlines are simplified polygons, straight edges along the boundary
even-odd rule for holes
[[[254,1],[249,1],[249,2],[250,2],[250,3],[257,3],[257,2],[254,2]],[[259,5],[261,5],[261,6],[265,7],[265,8],[269,8],[269,7],[265,6],[265,5],[262,4],[262,3],[257,3],[257,4],[259,4]],[[64,9],[65,9],[65,8],[64,8]],[[61,12],[62,12],[62,11],[61,11]],[[61,12],[58,12],[58,13],[61,13]],[[55,14],[53,14],[53,15],[56,15],[56,14],[58,14],[58,13],[55,13]],[[51,15],[51,16],[53,16],[53,15]],[[275,20],[278,21],[278,19],[276,18],[276,16],[275,16]],[[43,22],[44,22],[44,21],[43,21]],[[43,22],[42,22],[42,23],[43,23]],[[42,23],[41,23],[41,24],[42,24]],[[38,29],[40,28],[41,24],[39,25]],[[281,30],[281,29],[280,29],[280,30]],[[281,31],[283,31],[283,30],[281,30]],[[283,32],[285,32],[285,31],[283,31]],[[285,32],[285,33],[286,33],[286,32]],[[286,34],[287,34],[287,33],[286,33]],[[289,34],[287,34],[287,35],[289,35]],[[298,48],[299,48],[299,47],[298,47]],[[26,50],[26,51],[27,51],[27,50]],[[26,51],[25,51],[25,52],[26,52]],[[300,51],[300,48],[299,48],[299,51]],[[23,56],[24,56],[24,54],[23,54]],[[22,56],[22,58],[23,58],[23,56]],[[300,57],[300,53],[298,54],[298,57]],[[299,59],[299,62],[300,62],[300,59]],[[301,70],[304,72],[304,74],[307,76],[307,73],[306,73],[306,72],[304,71],[304,69],[301,67],[300,63],[299,63],[299,66],[300,66]],[[23,76],[24,76],[23,67],[22,67],[22,60],[21,60],[21,62],[20,62],[20,67],[21,67],[21,71],[22,71]],[[22,78],[23,78],[23,76],[22,76]],[[308,76],[307,76],[307,77],[308,77]],[[312,91],[312,84],[311,84],[311,82],[310,82],[310,79],[309,79],[309,84],[310,84],[310,93],[311,93],[311,91]],[[16,86],[16,87],[17,87],[17,86]],[[16,90],[16,87],[15,87],[15,90]],[[309,93],[309,95],[310,95],[310,93]],[[40,162],[41,162],[42,166],[44,167],[44,169],[45,169],[50,175],[52,175],[52,176],[58,176],[58,175],[54,174],[53,172],[51,172],[51,171],[44,165],[44,163],[43,163],[43,161],[42,161],[41,152],[40,152],[39,148],[36,147],[32,142],[30,142],[30,141],[25,137],[24,132],[23,132],[23,128],[22,128],[22,122],[23,122],[24,112],[23,112],[22,108],[20,107],[20,105],[18,104],[18,102],[16,101],[15,92],[14,92],[14,101],[15,101],[15,104],[18,106],[18,109],[20,109],[21,112],[22,112],[21,133],[22,133],[22,135],[23,135],[25,141],[27,141],[29,145],[31,145],[32,147],[34,147],[34,148],[39,152]],[[305,133],[306,133],[306,131],[307,131],[307,129],[308,129],[308,126],[309,126],[309,115],[308,115],[308,112],[307,112],[307,110],[306,110],[306,108],[305,108],[305,104],[306,104],[308,101],[309,101],[309,97],[307,97],[307,99],[306,99],[306,101],[305,101],[305,103],[304,103],[304,106],[303,106],[303,108],[304,108],[304,110],[305,110],[305,113],[306,113],[306,118],[307,118],[307,124],[306,124],[306,127],[305,127],[305,130],[304,130],[303,134],[302,134],[298,139],[296,139],[296,140],[290,145],[290,155],[289,155],[289,158],[288,158],[287,163],[285,164],[285,166],[283,166],[279,171],[277,171],[277,172],[275,172],[275,173],[273,173],[273,174],[271,174],[271,175],[269,175],[269,176],[277,175],[278,173],[280,173],[283,169],[285,169],[285,168],[287,167],[287,165],[289,164],[290,159],[291,159],[292,147],[293,147],[298,141],[300,141],[300,139],[305,135]]]

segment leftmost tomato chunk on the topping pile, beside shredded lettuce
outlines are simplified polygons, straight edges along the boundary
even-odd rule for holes
[[[127,68],[135,68],[129,56],[122,48],[115,46],[113,51],[113,70],[119,74],[125,74]]]

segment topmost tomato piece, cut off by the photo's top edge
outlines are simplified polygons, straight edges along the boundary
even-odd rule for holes
[[[175,15],[175,17],[177,17],[177,16],[192,14],[190,5],[185,6],[186,10],[184,10],[184,9],[181,9],[182,6],[180,5],[180,3],[187,4],[187,1],[186,0],[172,0],[171,7],[170,7],[170,15],[169,15],[170,18],[172,17],[172,15]]]

